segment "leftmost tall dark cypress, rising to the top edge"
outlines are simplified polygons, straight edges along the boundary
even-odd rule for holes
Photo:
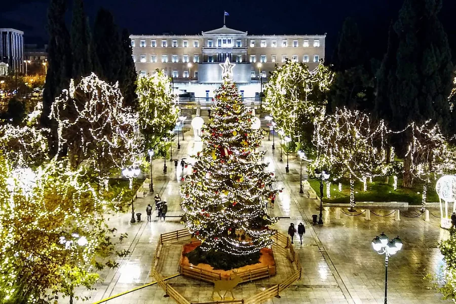
[[[48,72],[43,92],[41,125],[50,126],[49,113],[54,98],[68,87],[71,78],[71,52],[69,33],[65,26],[65,0],[51,0],[48,8]],[[55,134],[54,134],[55,137]]]

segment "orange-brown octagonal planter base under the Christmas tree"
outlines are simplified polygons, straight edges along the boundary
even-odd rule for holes
[[[185,256],[186,253],[194,250],[201,245],[201,242],[187,243],[182,246],[182,253],[180,257],[179,270],[180,274],[205,282],[214,282],[218,280],[228,280],[233,275],[231,270],[214,270],[209,264],[199,263],[194,265],[188,261]],[[246,265],[237,268],[236,275],[238,275],[242,282],[251,282],[253,280],[269,278],[276,274],[276,262],[272,249],[263,248],[260,250],[261,256],[259,263]]]

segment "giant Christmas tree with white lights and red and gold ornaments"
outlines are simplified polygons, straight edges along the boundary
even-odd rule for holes
[[[212,113],[202,130],[206,146],[181,187],[182,220],[201,241],[198,250],[207,261],[212,255],[251,263],[252,255],[259,257],[273,243],[269,225],[277,219],[269,216],[267,203],[277,192],[269,187],[274,173],[264,171],[263,153],[255,150],[263,135],[227,78],[215,91]]]

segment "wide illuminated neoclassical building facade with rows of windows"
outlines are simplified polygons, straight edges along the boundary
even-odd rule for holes
[[[131,35],[139,75],[163,70],[174,87],[195,97],[212,97],[221,83],[219,63],[236,63],[233,78],[245,97],[258,96],[275,64],[288,58],[309,68],[325,58],[324,35],[249,35],[223,26],[199,35]]]

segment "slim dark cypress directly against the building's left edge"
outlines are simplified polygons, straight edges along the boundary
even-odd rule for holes
[[[124,103],[136,109],[138,100],[136,96],[136,68],[132,58],[133,48],[131,47],[130,33],[124,28],[122,31],[122,69],[119,75],[119,87],[124,96]]]

